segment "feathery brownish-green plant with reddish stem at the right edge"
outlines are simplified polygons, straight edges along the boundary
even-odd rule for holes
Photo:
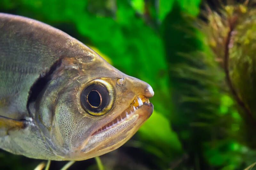
[[[220,13],[208,9],[209,23],[203,27],[208,44],[225,72],[228,91],[239,106],[246,135],[244,142],[255,148],[255,3],[226,5]]]

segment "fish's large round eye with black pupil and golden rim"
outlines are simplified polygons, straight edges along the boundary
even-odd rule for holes
[[[94,116],[104,115],[113,102],[113,94],[109,93],[112,92],[111,89],[108,90],[109,88],[109,85],[107,88],[99,82],[93,82],[85,87],[80,96],[84,110]]]

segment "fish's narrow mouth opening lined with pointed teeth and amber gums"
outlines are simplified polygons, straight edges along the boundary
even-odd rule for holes
[[[143,95],[138,95],[135,97],[133,102],[131,103],[130,107],[126,108],[120,115],[118,115],[115,119],[112,121],[108,122],[107,124],[103,125],[100,129],[96,130],[95,132],[92,133],[91,136],[94,136],[98,133],[101,133],[105,130],[108,130],[119,123],[125,121],[127,118],[130,116],[134,115],[135,111],[140,109],[143,105],[147,105],[148,107],[153,107],[153,104],[149,102],[149,99],[146,98]],[[149,116],[152,113],[149,114]],[[149,117],[148,116],[148,117]]]

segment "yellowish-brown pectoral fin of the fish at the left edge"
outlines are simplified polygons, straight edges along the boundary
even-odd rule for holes
[[[14,120],[11,118],[0,116],[0,137],[8,135],[9,130],[23,129],[25,127],[25,121]]]

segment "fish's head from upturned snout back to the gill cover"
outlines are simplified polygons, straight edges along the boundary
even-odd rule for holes
[[[63,160],[115,150],[153,112],[148,100],[154,95],[151,86],[117,70],[92,50],[87,56],[63,58],[58,70],[38,104],[38,120],[44,126],[51,122],[43,131]],[[49,107],[50,116],[44,114]]]

